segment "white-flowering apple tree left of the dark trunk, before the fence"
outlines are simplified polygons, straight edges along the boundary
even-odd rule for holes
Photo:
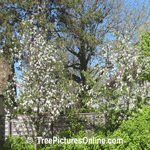
[[[74,82],[66,78],[63,60],[58,57],[60,50],[45,41],[38,29],[32,28],[30,24],[32,25],[32,20],[23,22],[26,29],[24,28],[20,38],[22,49],[25,48],[27,53],[28,65],[22,63],[22,76],[16,74],[14,82],[7,83],[5,92],[6,101],[13,106],[13,96],[17,107],[13,109],[13,114],[7,106],[5,110],[7,116],[21,114],[28,134],[37,137],[49,133],[51,123],[64,108],[78,101],[78,94],[72,90],[76,86]],[[18,96],[15,89],[10,89],[12,84],[19,88]],[[47,125],[47,128],[43,128],[44,125]]]

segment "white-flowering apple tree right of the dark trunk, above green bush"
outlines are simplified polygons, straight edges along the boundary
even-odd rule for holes
[[[124,35],[124,36],[123,36]],[[141,110],[142,105],[149,104],[150,84],[148,81],[141,81],[139,74],[149,70],[148,59],[140,57],[141,48],[137,48],[130,42],[129,33],[121,34],[114,32],[116,41],[113,40],[102,47],[102,58],[107,58],[106,65],[97,74],[99,78],[108,79],[109,72],[115,75],[110,82],[98,82],[99,88],[92,88],[87,93],[88,105],[95,105],[99,112],[106,114],[107,121],[111,121],[112,131],[117,128],[121,121],[125,121],[134,115],[134,112]],[[101,62],[101,61],[100,61]],[[110,64],[117,64],[117,67]],[[93,75],[93,80],[96,75]],[[109,79],[110,80],[110,79]],[[109,114],[109,116],[107,115]]]

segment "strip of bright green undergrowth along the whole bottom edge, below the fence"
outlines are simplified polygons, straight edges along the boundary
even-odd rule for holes
[[[43,147],[38,146],[39,150],[147,150],[150,149],[150,107],[147,109],[146,107],[142,108],[142,112],[137,112],[134,117],[131,117],[128,121],[122,122],[117,130],[113,133],[107,131],[107,136],[104,134],[105,128],[101,127],[94,134],[94,139],[103,139],[101,144],[91,144],[86,140],[89,139],[88,133],[85,132],[83,126],[78,126],[78,132],[74,132],[74,130],[66,130],[62,132],[61,135],[57,136],[57,138],[67,137],[68,134],[72,134],[72,139],[78,139],[77,143],[73,142],[73,144],[61,144],[55,142],[52,146],[49,144],[45,144]],[[85,138],[84,138],[85,137]],[[84,142],[79,139],[83,140]],[[34,150],[33,144],[27,144],[25,142],[25,138],[17,137],[13,139],[12,137],[8,138],[9,142],[7,145],[12,144],[11,150]],[[109,139],[113,139],[111,144],[106,144]],[[116,141],[115,141],[115,140]],[[117,143],[117,139],[123,139],[123,143]],[[17,143],[16,143],[17,141]],[[87,142],[87,143],[86,143]],[[109,140],[109,142],[111,142]],[[118,141],[119,142],[119,141]],[[7,147],[5,145],[5,147]]]

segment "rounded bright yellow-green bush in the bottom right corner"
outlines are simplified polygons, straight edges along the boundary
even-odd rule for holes
[[[108,145],[110,149],[150,149],[150,107],[143,106],[142,112],[122,122],[111,136],[113,138],[122,138],[123,144]]]

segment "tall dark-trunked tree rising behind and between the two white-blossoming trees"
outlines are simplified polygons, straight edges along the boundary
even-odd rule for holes
[[[79,75],[73,74],[74,80],[86,85],[87,81],[83,71],[88,72],[87,66],[93,59],[97,58],[99,63],[104,62],[106,65],[109,63],[107,52],[100,49],[100,46],[106,44],[106,35],[108,33],[111,35],[114,29],[121,31],[121,34],[128,30],[131,32],[131,39],[134,36],[134,30],[138,27],[134,23],[136,22],[138,25],[141,23],[137,18],[140,14],[134,16],[136,10],[131,13],[130,8],[125,6],[123,1],[82,1],[77,5],[61,1],[60,5],[62,4],[63,6],[60,8],[63,15],[60,13],[59,26],[63,28],[64,34],[59,37],[67,39],[67,50],[77,60],[74,63],[70,61],[67,67],[77,70]],[[141,7],[141,9],[143,8]],[[135,17],[134,23],[130,20],[131,14]],[[129,17],[122,20],[121,15]],[[104,53],[107,55],[105,58],[101,57]],[[108,67],[113,68],[113,64],[109,64]],[[103,72],[101,73],[103,74]],[[85,89],[85,91],[87,90]],[[84,104],[81,102],[81,105]]]

